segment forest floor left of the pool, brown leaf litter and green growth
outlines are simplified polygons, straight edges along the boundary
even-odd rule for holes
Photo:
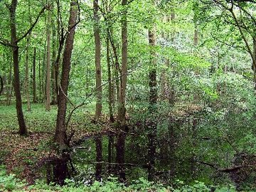
[[[75,130],[73,141],[78,141],[95,132],[100,132],[105,122],[98,126],[93,124],[93,107],[79,110],[73,114],[68,127],[68,133]],[[18,135],[18,122],[14,105],[0,105],[0,164],[6,166],[9,174],[16,174],[19,178],[33,183],[36,169],[42,159],[54,156],[52,149],[55,131],[57,107],[51,106],[46,112],[43,104],[31,105],[31,112],[26,111],[24,117],[28,127],[28,137]],[[103,117],[102,121],[107,120]],[[107,122],[107,121],[106,121]]]

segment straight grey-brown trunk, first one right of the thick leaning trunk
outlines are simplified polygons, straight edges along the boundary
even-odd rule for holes
[[[99,1],[93,0],[94,16],[95,16],[95,26],[94,26],[94,36],[95,36],[95,68],[96,68],[96,111],[95,119],[99,119],[102,114],[102,87],[101,87],[101,64],[100,64],[100,23],[99,23]]]

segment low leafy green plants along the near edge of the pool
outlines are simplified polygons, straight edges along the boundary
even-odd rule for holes
[[[230,191],[235,192],[234,186],[224,186],[224,187],[215,187],[210,186],[210,188],[215,188],[215,191],[224,192]],[[146,181],[144,178],[139,178],[137,181],[132,181],[129,186],[125,186],[124,183],[119,183],[117,178],[109,178],[109,181],[98,182],[95,181],[92,185],[87,186],[83,183],[75,184],[72,180],[66,180],[65,186],[58,186],[53,183],[49,185],[44,183],[43,181],[36,181],[34,185],[26,187],[26,183],[24,181],[20,181],[14,174],[7,175],[4,169],[4,166],[0,167],[0,190],[1,191],[99,191],[99,192],[107,192],[107,191],[174,191],[174,192],[208,192],[210,188],[206,186],[204,183],[195,181],[192,186],[185,185],[183,181],[176,181],[176,187],[166,187],[162,184],[157,184],[154,182]]]

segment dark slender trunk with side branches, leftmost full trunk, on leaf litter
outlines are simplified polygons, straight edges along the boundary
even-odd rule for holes
[[[16,95],[16,112],[18,117],[18,132],[20,135],[27,135],[25,120],[22,111],[21,101],[21,84],[19,78],[19,67],[18,67],[18,43],[16,36],[16,6],[17,0],[11,1],[10,11],[10,27],[11,27],[11,45],[14,62],[14,91]]]

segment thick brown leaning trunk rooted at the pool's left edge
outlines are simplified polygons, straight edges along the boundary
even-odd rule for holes
[[[55,129],[55,142],[60,146],[60,151],[67,146],[67,135],[65,127],[65,116],[67,110],[67,95],[68,95],[68,83],[69,73],[71,65],[71,54],[73,51],[74,36],[75,36],[75,23],[78,14],[77,1],[72,0],[70,3],[70,18],[68,21],[68,35],[65,41],[65,50],[63,53],[63,67],[61,73],[60,86],[61,91],[59,93],[58,100],[58,114]]]

